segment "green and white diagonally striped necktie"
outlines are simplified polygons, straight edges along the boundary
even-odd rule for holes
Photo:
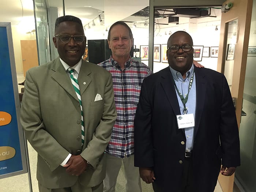
[[[83,121],[83,107],[82,107],[82,100],[81,100],[81,95],[80,95],[80,90],[79,90],[79,84],[78,84],[78,79],[76,78],[76,75],[74,74],[75,69],[72,67],[69,67],[67,71],[70,73],[70,78],[71,78],[71,83],[75,89],[76,95],[79,100],[80,108],[81,108],[81,125],[82,125],[82,146],[84,144],[84,121]]]

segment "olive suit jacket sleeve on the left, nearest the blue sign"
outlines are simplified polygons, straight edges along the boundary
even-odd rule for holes
[[[32,74],[31,70],[26,72],[20,122],[31,146],[48,164],[50,170],[53,171],[60,166],[69,152],[45,129],[41,114],[39,91]]]

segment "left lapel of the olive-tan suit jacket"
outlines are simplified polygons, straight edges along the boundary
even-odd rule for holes
[[[52,78],[56,80],[56,82],[59,83],[59,85],[63,87],[67,93],[69,93],[72,97],[74,97],[74,99],[78,101],[78,97],[76,96],[71,80],[65,71],[65,68],[61,64],[59,57],[54,60],[52,64],[52,70],[54,71]]]

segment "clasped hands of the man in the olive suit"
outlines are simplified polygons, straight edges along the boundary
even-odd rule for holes
[[[67,167],[68,174],[79,176],[86,170],[88,163],[81,155],[71,155],[64,167]]]

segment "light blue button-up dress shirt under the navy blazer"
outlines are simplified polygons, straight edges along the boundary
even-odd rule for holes
[[[186,78],[185,79],[183,79],[180,72],[175,71],[171,67],[170,67],[170,71],[172,73],[174,82],[176,83],[176,86],[177,86],[178,90],[180,91],[180,93],[185,98],[188,94],[189,81],[190,81],[190,79],[191,79],[191,77],[194,73],[194,65],[192,64],[192,67],[186,73]],[[183,114],[182,112],[183,112],[183,109],[184,109],[184,105],[181,101],[180,96],[177,93],[177,90],[176,90],[176,95],[177,95],[179,106],[180,106],[180,113]],[[186,103],[186,108],[188,110],[188,114],[193,113],[194,118],[195,118],[195,112],[196,112],[196,75],[195,75],[195,73],[194,73],[194,76],[193,76],[192,87],[191,87],[191,89],[189,91],[189,94],[188,94],[188,101]],[[194,140],[194,127],[185,128],[185,135],[186,135],[186,139],[187,139],[186,151],[187,150],[192,150],[193,149],[193,140]]]

